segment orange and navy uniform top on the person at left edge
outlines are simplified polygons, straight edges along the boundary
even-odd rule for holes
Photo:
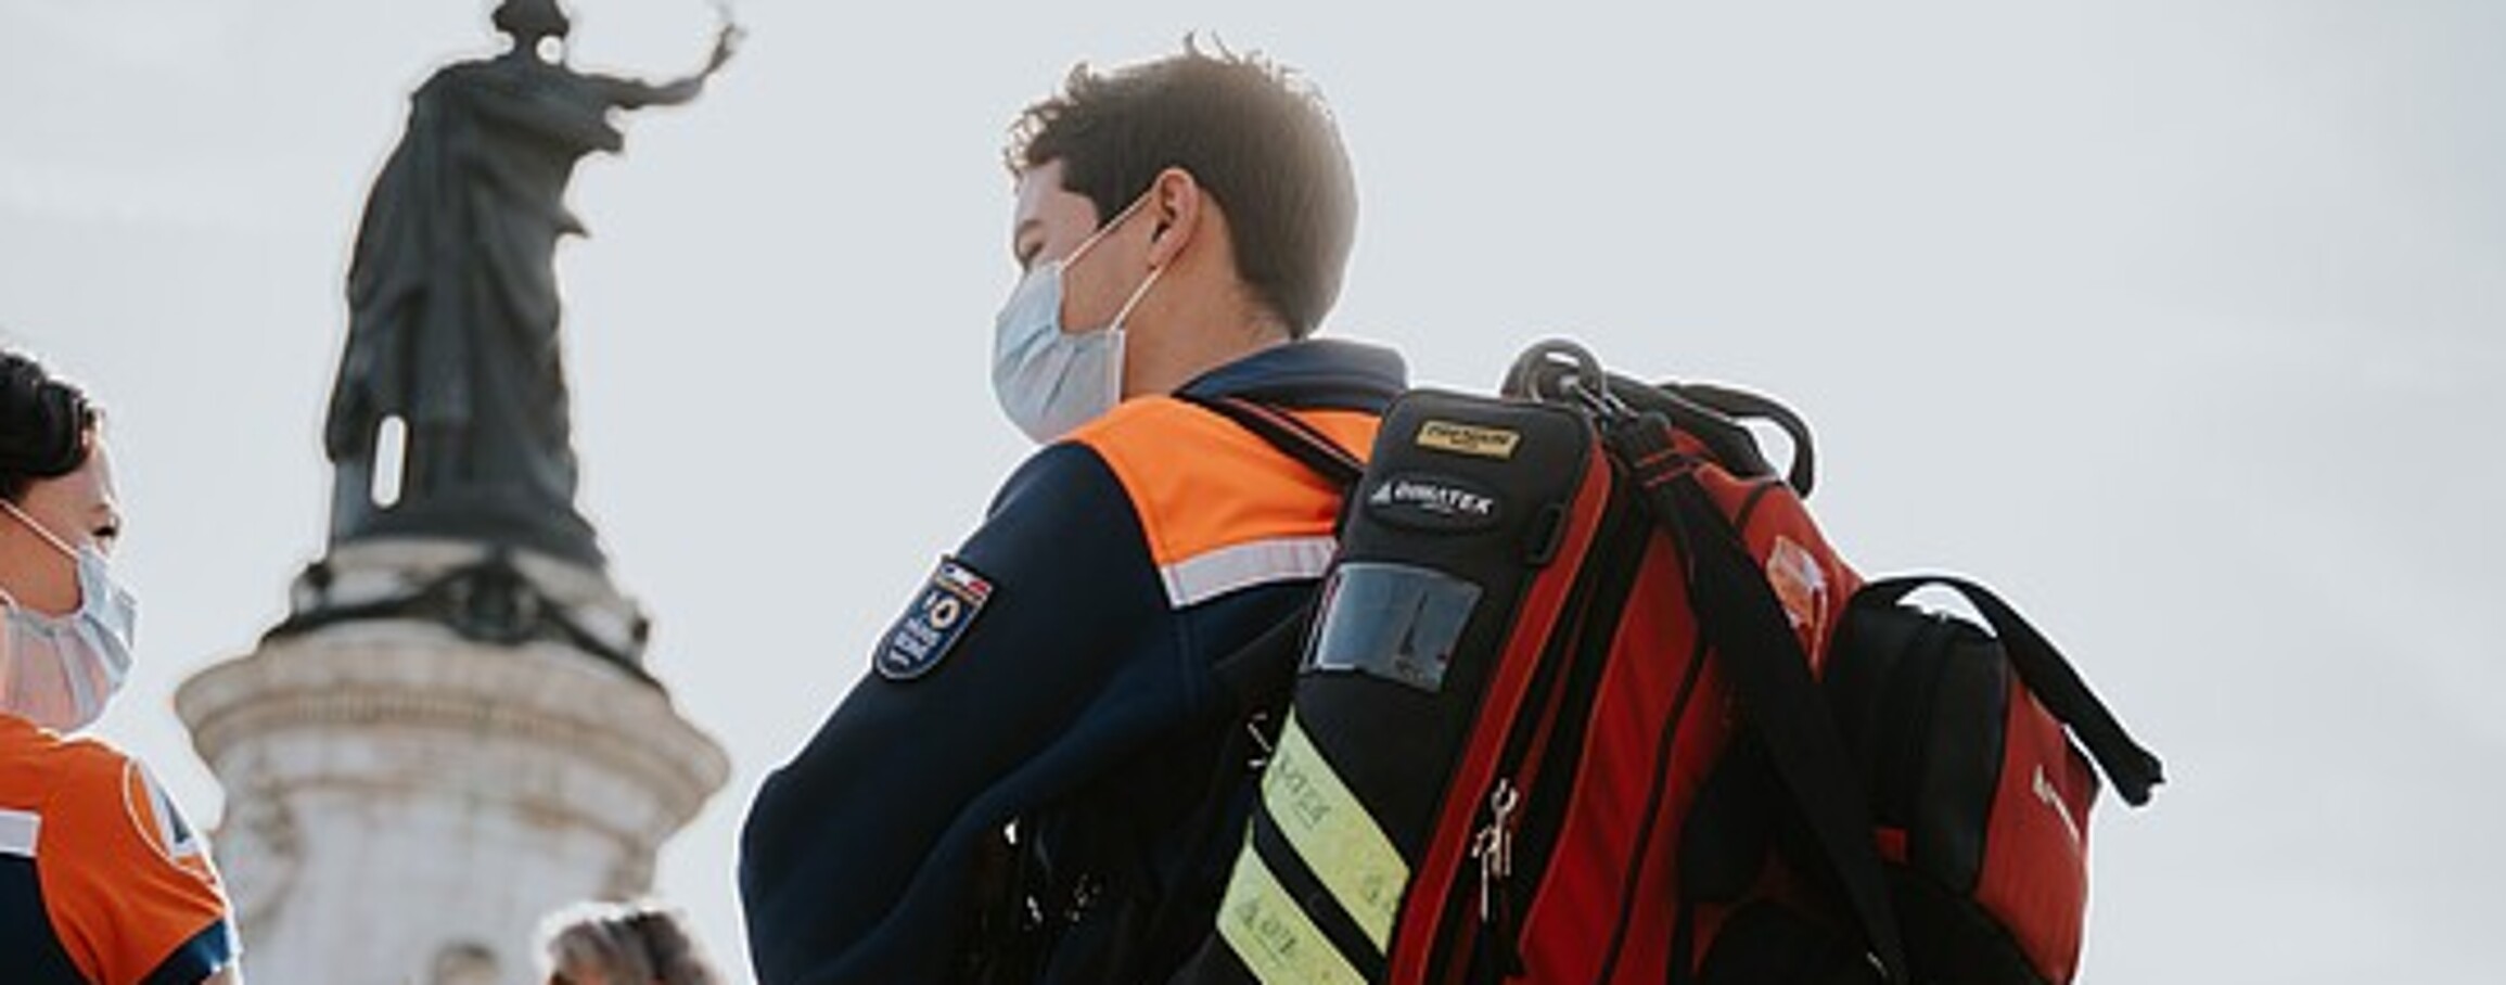
[[[208,845],[148,769],[0,714],[0,980],[198,985],[236,952]]]

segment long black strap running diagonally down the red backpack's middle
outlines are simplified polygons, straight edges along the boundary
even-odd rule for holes
[[[1656,411],[1609,426],[1606,441],[1636,484],[1654,521],[1669,531],[1687,561],[1689,604],[1722,669],[1732,679],[1747,724],[1767,747],[1774,772],[1792,792],[1802,822],[1844,890],[1882,975],[1910,982],[1905,937],[1890,907],[1879,852],[1872,847],[1872,812],[1854,782],[1844,737],[1819,699],[1782,602],[1759,574],[1739,531],[1697,484],[1697,461],[1672,444],[1672,424]]]

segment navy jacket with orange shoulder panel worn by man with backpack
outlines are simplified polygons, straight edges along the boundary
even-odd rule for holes
[[[875,642],[872,674],[759,787],[739,860],[759,980],[947,980],[1010,820],[1042,857],[1120,842],[1138,865],[1115,892],[1198,900],[1210,912],[1170,925],[1213,925],[1238,845],[1185,820],[1223,737],[1180,722],[1223,702],[1218,659],[1311,599],[1341,489],[1188,399],[1276,406],[1363,456],[1401,388],[1391,351],[1298,341],[1030,456]],[[1042,980],[1093,980],[1093,952],[1120,940],[1108,922],[1070,925]]]

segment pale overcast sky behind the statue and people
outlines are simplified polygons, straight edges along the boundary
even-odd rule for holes
[[[100,729],[195,817],[170,692],[321,551],[358,206],[486,8],[0,0],[0,338],[113,411],[145,622]],[[659,882],[727,965],[757,779],[1025,454],[1005,125],[1203,28],[1338,110],[1331,331],[1453,386],[1574,333],[1782,393],[1864,571],[1980,574],[2067,647],[2173,777],[2095,817],[2085,980],[2493,980],[2506,5],[1376,8],[754,0],[581,168],[584,506],[734,759]],[[644,75],[714,23],[574,13]]]

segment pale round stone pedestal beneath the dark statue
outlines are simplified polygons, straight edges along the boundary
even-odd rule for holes
[[[476,589],[489,561],[511,597]],[[599,571],[376,541],[308,581],[286,627],[175,694],[226,784],[216,852],[258,982],[531,982],[536,920],[644,892],[727,777],[642,674],[642,617]],[[446,594],[529,619],[481,639],[391,604]],[[584,627],[634,627],[634,649]]]

